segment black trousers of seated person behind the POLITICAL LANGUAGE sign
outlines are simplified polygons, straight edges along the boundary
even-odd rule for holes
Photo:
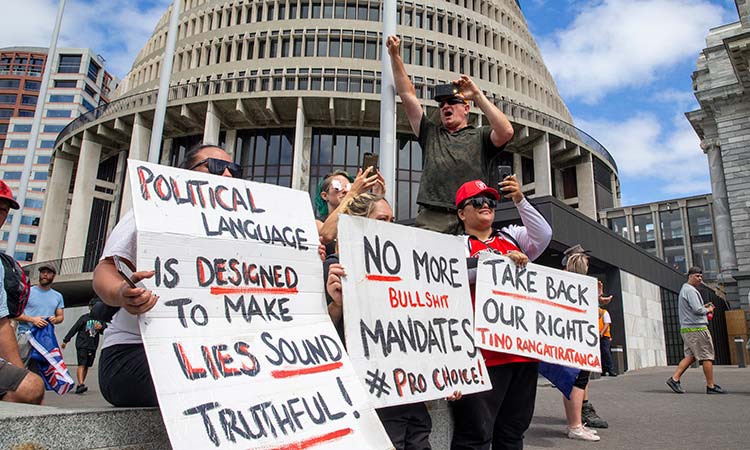
[[[114,406],[159,406],[143,344],[121,344],[102,349],[99,387]]]

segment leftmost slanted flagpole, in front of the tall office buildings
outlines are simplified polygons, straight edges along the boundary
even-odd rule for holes
[[[44,113],[44,105],[47,103],[47,87],[49,85],[50,74],[52,73],[52,65],[55,63],[55,53],[57,52],[57,37],[60,34],[60,24],[62,23],[62,14],[65,10],[65,0],[60,0],[60,4],[57,7],[57,19],[55,20],[55,27],[52,29],[52,40],[49,44],[49,52],[47,53],[47,62],[44,65],[44,75],[42,75],[42,84],[39,86],[39,97],[36,99],[36,110],[34,111],[34,122],[31,125],[31,136],[29,136],[29,143],[26,146],[26,157],[23,161],[23,172],[21,174],[21,185],[18,188],[18,205],[20,208],[18,211],[13,213],[13,221],[10,224],[10,233],[8,234],[8,247],[5,251],[10,256],[14,256],[16,253],[16,244],[18,243],[18,230],[21,228],[21,217],[23,217],[23,211],[25,209],[24,203],[26,203],[26,191],[29,188],[29,178],[31,177],[31,166],[34,162],[34,153],[39,141],[39,127],[42,124],[42,114]]]

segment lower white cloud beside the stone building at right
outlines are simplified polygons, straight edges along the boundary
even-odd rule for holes
[[[670,197],[711,191],[706,155],[684,116],[676,114],[667,130],[645,112],[622,122],[577,119],[576,124],[615,158],[623,191],[642,195],[655,189]]]

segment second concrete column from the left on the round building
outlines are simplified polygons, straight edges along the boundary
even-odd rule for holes
[[[73,201],[68,216],[68,231],[65,234],[63,258],[83,256],[86,250],[86,238],[91,220],[91,205],[94,198],[96,173],[102,146],[94,142],[89,131],[83,134],[81,154],[78,156],[76,179],[73,185]]]

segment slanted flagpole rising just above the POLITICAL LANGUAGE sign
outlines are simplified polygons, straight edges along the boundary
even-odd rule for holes
[[[148,146],[148,162],[155,164],[159,163],[159,150],[161,149],[164,117],[167,113],[167,100],[169,97],[169,78],[172,75],[174,48],[177,44],[177,25],[179,25],[180,5],[182,2],[183,0],[174,0],[172,4],[169,31],[167,32],[167,45],[164,47],[164,59],[162,60],[161,73],[159,74],[159,93],[156,96],[154,124],[151,128],[151,143]]]

